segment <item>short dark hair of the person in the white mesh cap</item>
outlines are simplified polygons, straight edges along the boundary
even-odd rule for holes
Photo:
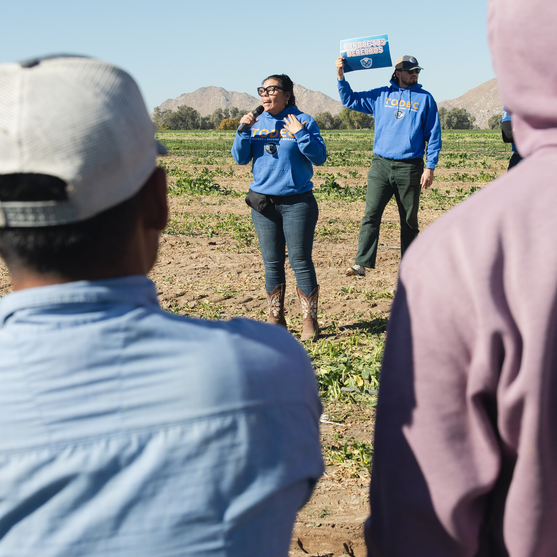
[[[66,277],[116,265],[139,218],[143,188],[135,196],[88,218],[60,226],[0,228],[0,256],[8,265]],[[45,174],[0,175],[0,201],[64,201],[67,185]]]

